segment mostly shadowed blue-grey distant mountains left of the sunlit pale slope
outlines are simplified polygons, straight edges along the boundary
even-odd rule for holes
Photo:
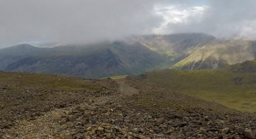
[[[167,68],[214,37],[203,33],[133,36],[124,41],[37,48],[21,44],[0,49],[0,70],[83,78],[143,73]]]

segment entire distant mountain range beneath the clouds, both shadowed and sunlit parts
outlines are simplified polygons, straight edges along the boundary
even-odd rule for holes
[[[180,33],[43,48],[19,44],[0,49],[0,70],[102,78],[154,69],[215,69],[253,59],[256,40]]]

